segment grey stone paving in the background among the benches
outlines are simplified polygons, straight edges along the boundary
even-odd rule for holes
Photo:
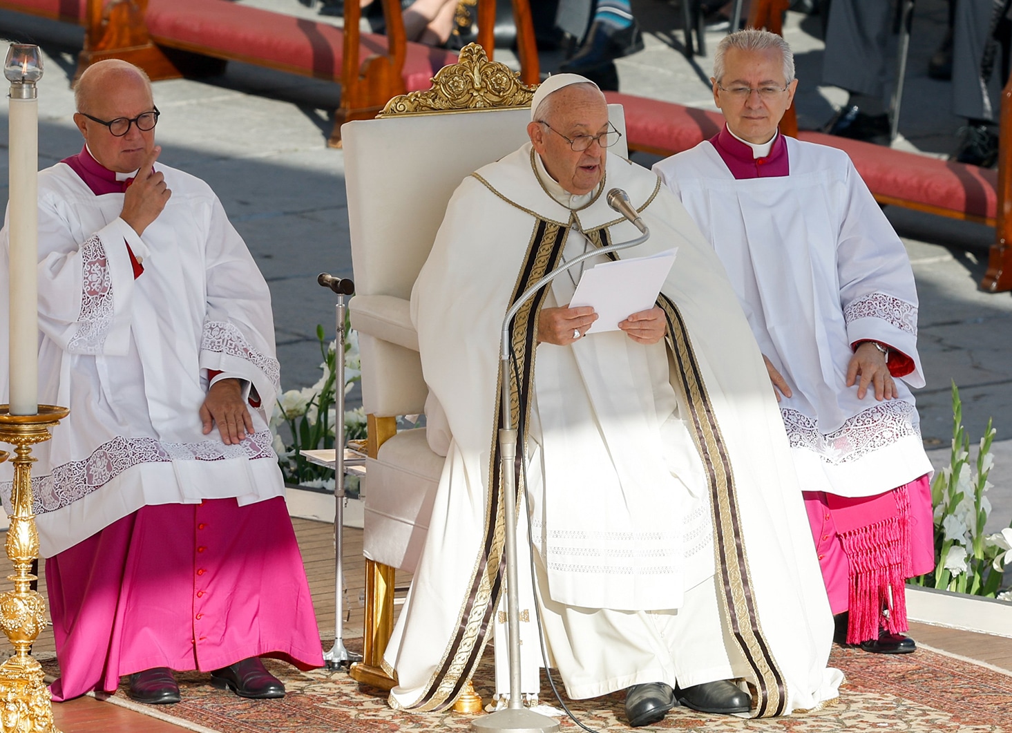
[[[240,0],[246,4],[340,22],[318,15],[314,0]],[[682,54],[678,3],[634,0],[644,27],[644,51],[617,62],[623,91],[713,108],[711,58]],[[946,155],[960,125],[950,110],[950,84],[927,78],[927,58],[944,33],[942,0],[917,3],[895,147]],[[724,31],[707,32],[712,53]],[[796,53],[798,119],[824,124],[846,94],[822,87],[821,19],[790,12],[785,36]],[[69,81],[83,32],[67,24],[0,11],[0,38],[37,43],[46,61],[39,84],[39,165],[76,153],[80,136]],[[510,63],[508,52],[500,60]],[[542,72],[558,67],[558,53],[542,54]],[[273,297],[278,355],[285,388],[313,384],[320,352],[315,330],[333,333],[333,297],[315,282],[322,270],[351,275],[343,154],[325,146],[340,94],[335,84],[230,64],[219,77],[155,84],[163,114],[162,160],[205,179],[259,263]],[[0,106],[0,203],[6,202],[6,106]],[[650,165],[654,159],[638,155]],[[954,381],[974,441],[989,417],[998,431],[995,506],[990,530],[1012,519],[1012,296],[977,290],[994,238],[990,228],[905,210],[887,214],[908,247],[921,298],[920,348],[928,386],[918,393],[922,430],[936,467],[948,460],[949,389]],[[354,396],[352,396],[352,403]]]

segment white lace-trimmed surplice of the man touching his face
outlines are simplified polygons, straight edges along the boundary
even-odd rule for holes
[[[38,174],[38,401],[71,410],[32,452],[44,557],[146,504],[283,495],[265,413],[279,382],[267,284],[207,184],[157,169],[172,196],[140,237],[119,219],[122,193],[95,195],[65,163]],[[6,227],[0,239],[8,292]],[[137,279],[128,244],[144,266]],[[208,370],[260,400],[240,444],[202,433]],[[7,511],[11,480],[0,465]]]

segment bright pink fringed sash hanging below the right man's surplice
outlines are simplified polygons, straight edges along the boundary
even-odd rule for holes
[[[847,643],[877,639],[880,628],[906,632],[905,582],[914,574],[907,486],[872,497],[827,499],[850,566]]]

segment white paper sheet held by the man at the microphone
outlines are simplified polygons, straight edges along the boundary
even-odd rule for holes
[[[649,257],[631,257],[601,262],[585,270],[570,308],[591,306],[597,320],[587,333],[617,331],[618,324],[640,311],[648,311],[657,302],[678,247]]]

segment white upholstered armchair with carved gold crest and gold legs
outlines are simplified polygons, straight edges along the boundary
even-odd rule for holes
[[[394,623],[394,572],[415,569],[443,466],[424,428],[396,425],[400,415],[423,413],[428,395],[411,289],[460,181],[527,141],[533,91],[472,45],[432,89],[395,97],[377,118],[341,129],[356,290],[349,310],[368,415],[365,638],[362,662],[351,668],[363,683],[396,683],[381,666]],[[611,105],[610,117],[624,132],[620,105]],[[613,150],[624,156],[624,139]]]

